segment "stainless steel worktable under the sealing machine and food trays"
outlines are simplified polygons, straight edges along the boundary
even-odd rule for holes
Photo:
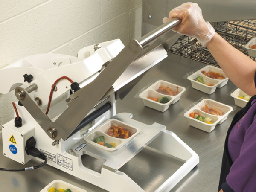
[[[234,114],[241,109],[235,106],[234,99],[229,95],[236,88],[230,80],[227,85],[217,88],[215,93],[208,95],[193,89],[191,82],[183,78],[187,73],[202,65],[205,64],[169,53],[166,59],[148,71],[123,100],[119,99],[116,102],[116,113],[132,113],[133,119],[148,125],[154,122],[166,125],[169,131],[174,132],[199,155],[200,163],[171,192],[218,191],[219,172],[226,132]],[[163,113],[145,107],[143,100],[138,98],[138,93],[144,87],[160,79],[186,87],[187,89],[180,100],[174,105],[170,105],[169,109]],[[188,120],[181,115],[184,109],[202,97],[207,97],[235,108],[235,111],[228,116],[227,120],[221,125],[217,125],[211,133],[189,126]],[[3,168],[21,168],[40,163],[37,160],[32,160],[26,166],[23,166],[4,157],[2,139],[0,141],[0,154],[0,167]],[[140,157],[135,156],[132,160],[134,162],[139,161]],[[122,171],[126,169],[125,166],[121,168]],[[156,174],[154,170],[148,170],[148,172],[150,173],[149,175]],[[104,189],[100,189],[48,165],[27,172],[0,172],[0,191],[39,192],[52,180],[56,179],[64,180],[88,192],[105,192]],[[146,187],[146,191],[151,191],[151,184],[144,183],[144,185],[149,186]]]

